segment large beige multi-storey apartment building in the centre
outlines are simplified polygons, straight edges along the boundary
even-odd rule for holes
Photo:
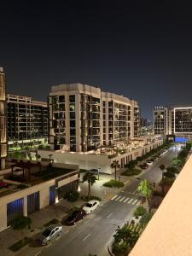
[[[87,84],[60,84],[49,93],[52,150],[87,152],[138,137],[137,102]]]

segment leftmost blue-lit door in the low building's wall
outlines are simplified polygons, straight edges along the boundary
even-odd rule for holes
[[[16,217],[23,215],[23,205],[24,205],[23,198],[12,201],[7,205],[7,224],[8,224],[8,226],[11,224],[11,222]]]

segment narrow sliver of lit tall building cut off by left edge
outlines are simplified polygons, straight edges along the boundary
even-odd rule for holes
[[[6,119],[6,84],[3,67],[0,67],[0,169],[5,168],[5,158],[7,156],[7,119]]]

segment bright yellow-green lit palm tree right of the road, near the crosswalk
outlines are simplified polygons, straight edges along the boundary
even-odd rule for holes
[[[139,183],[137,187],[137,191],[141,193],[142,197],[144,196],[148,202],[148,212],[150,212],[149,199],[153,194],[153,190],[153,186],[151,185],[151,183],[148,182],[147,179],[143,179],[143,181],[141,181],[141,183]]]

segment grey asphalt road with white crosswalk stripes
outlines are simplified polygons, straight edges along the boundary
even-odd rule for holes
[[[168,166],[175,156],[172,148],[157,162],[145,170],[139,178],[148,178],[151,182],[159,182],[160,164]],[[108,243],[118,225],[123,225],[131,213],[139,205],[137,185],[138,177],[131,177],[130,182],[112,200],[104,203],[95,212],[72,227],[64,227],[61,238],[46,246],[40,255],[46,256],[97,256],[108,255]]]

